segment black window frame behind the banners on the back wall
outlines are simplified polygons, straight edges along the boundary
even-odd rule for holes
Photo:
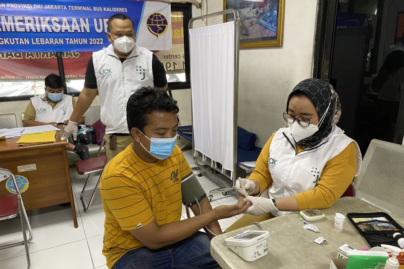
[[[179,3],[171,3],[171,11],[178,11],[184,14],[183,23],[184,23],[184,54],[185,54],[185,81],[179,82],[168,82],[168,87],[171,90],[175,89],[189,89],[191,87],[190,83],[190,64],[189,64],[189,33],[188,33],[188,22],[192,18],[192,6],[191,4],[179,4]],[[62,52],[56,52],[56,61],[58,62],[59,76],[61,76],[64,83],[64,93],[71,96],[79,96],[80,92],[70,92],[67,93],[66,87],[66,77],[65,70],[63,66],[63,58]],[[9,96],[9,97],[0,97],[0,102],[5,101],[23,101],[29,100],[31,97],[35,95],[22,95],[22,96]]]

